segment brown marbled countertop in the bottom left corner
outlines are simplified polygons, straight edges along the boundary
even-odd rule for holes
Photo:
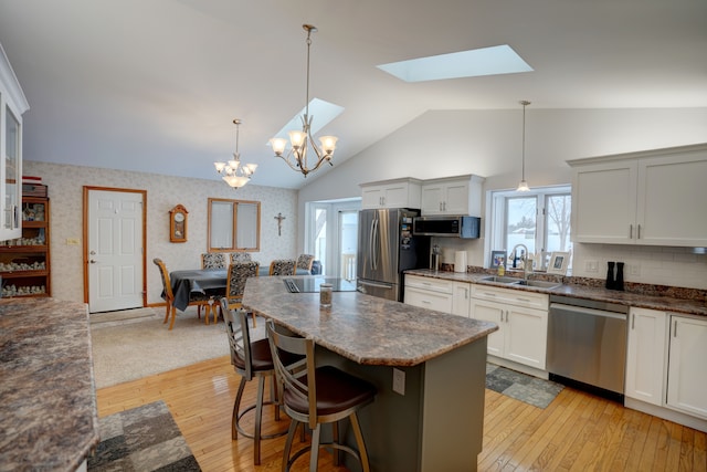
[[[0,471],[74,471],[98,444],[88,312],[0,300]]]

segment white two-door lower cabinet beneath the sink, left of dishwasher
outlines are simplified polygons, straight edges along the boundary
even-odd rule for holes
[[[547,357],[548,307],[548,295],[472,284],[472,317],[498,325],[488,335],[488,354],[540,370]]]

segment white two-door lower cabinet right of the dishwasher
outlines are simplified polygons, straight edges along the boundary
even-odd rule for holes
[[[648,412],[677,422],[684,423],[666,411],[707,420],[707,319],[631,308],[629,323],[626,399],[659,407]],[[707,431],[705,422],[688,426]]]

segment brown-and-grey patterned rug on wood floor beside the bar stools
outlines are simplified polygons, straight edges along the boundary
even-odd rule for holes
[[[98,420],[101,443],[89,471],[200,471],[163,401]]]

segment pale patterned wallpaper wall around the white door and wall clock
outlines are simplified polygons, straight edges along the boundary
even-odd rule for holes
[[[147,192],[147,302],[161,303],[162,283],[152,259],[165,261],[167,270],[201,266],[207,251],[209,198],[257,200],[261,202],[261,251],[255,261],[270,264],[273,259],[296,258],[297,191],[247,185],[234,190],[222,181],[188,179],[156,174],[128,172],[83,166],[24,161],[23,172],[42,177],[51,202],[52,296],[84,302],[83,284],[83,187],[145,190]],[[169,213],[177,203],[189,211],[188,242],[169,242]],[[277,235],[277,220],[285,220]],[[77,239],[78,245],[67,244]]]

